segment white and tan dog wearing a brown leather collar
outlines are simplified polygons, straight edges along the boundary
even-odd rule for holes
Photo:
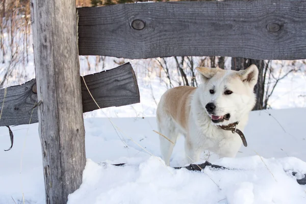
[[[202,80],[197,88],[171,88],[162,95],[157,108],[160,149],[168,166],[179,134],[185,137],[189,163],[198,162],[205,150],[219,158],[236,157],[241,138],[218,125],[236,124],[243,131],[256,104],[253,91],[258,80],[256,65],[240,71],[207,67],[196,70]]]

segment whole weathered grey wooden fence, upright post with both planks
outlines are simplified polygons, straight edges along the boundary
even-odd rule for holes
[[[40,124],[47,203],[65,203],[67,195],[82,182],[82,113],[97,106],[79,77],[78,55],[306,59],[305,0],[78,8],[79,27],[74,5],[74,0],[31,2],[37,85],[32,80],[0,90],[0,125],[29,123],[35,104],[39,104],[32,122]],[[85,80],[101,108],[139,102],[129,64],[88,75]]]

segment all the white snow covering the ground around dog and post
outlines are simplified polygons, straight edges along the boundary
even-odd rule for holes
[[[154,117],[87,118],[83,183],[68,203],[306,203],[306,186],[296,182],[306,173],[305,114],[304,108],[251,112],[248,147],[237,158],[202,155],[230,170],[202,172],[165,166]],[[0,151],[0,203],[22,203],[22,194],[25,203],[45,203],[38,124],[11,129],[14,146]],[[0,149],[9,146],[8,129],[0,127]],[[118,163],[126,165],[111,165]],[[186,163],[180,137],[170,165]]]

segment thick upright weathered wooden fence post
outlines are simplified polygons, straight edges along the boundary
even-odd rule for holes
[[[86,163],[75,0],[31,0],[46,203],[66,203]]]

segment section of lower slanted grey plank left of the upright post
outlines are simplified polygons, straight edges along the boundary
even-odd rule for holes
[[[5,89],[0,89],[0,111],[4,105],[0,126],[38,122],[37,107],[34,108],[37,103],[37,94],[32,91],[35,83],[36,80],[33,79],[22,85],[8,87],[5,98]]]

